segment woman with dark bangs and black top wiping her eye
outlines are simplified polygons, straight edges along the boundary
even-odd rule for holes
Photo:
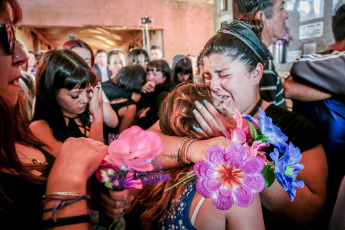
[[[97,87],[93,90],[96,77],[84,59],[68,49],[48,51],[39,62],[36,78],[34,121],[30,127],[54,155],[68,137],[103,142],[102,94]]]

